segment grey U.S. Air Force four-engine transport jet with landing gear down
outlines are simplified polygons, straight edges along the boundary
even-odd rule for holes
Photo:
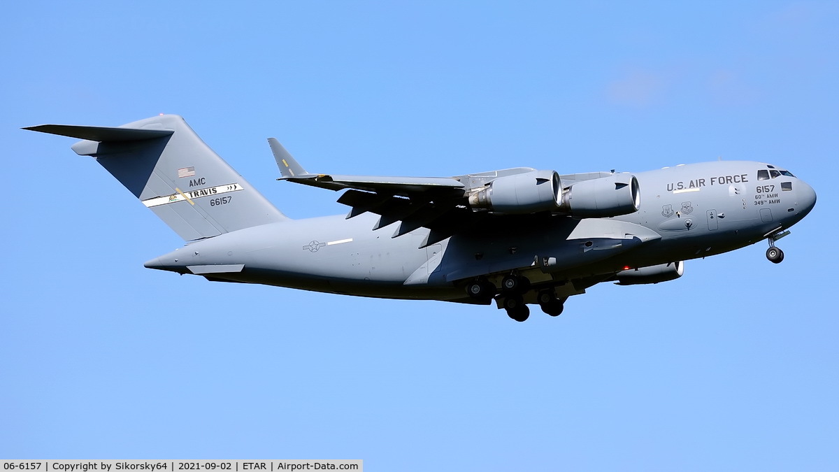
[[[316,174],[268,139],[279,180],[344,191],[349,213],[292,220],[216,155],[183,118],[117,128],[44,124],[83,139],[107,171],[186,244],[146,262],[209,281],[356,296],[490,305],[551,316],[605,281],[654,284],[683,261],[766,239],[816,204],[776,165],[717,161],[648,172],[560,175],[529,167],[453,177]]]

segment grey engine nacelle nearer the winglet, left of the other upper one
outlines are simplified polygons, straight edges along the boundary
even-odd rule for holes
[[[469,204],[502,213],[555,212],[559,210],[562,186],[555,170],[532,170],[504,176],[469,197]]]

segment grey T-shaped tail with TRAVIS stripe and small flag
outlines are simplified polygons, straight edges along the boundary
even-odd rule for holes
[[[122,182],[186,241],[288,218],[177,115],[118,128],[42,124],[32,131],[84,139],[73,144]]]

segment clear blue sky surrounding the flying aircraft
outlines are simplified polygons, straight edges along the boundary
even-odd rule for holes
[[[832,2],[17,2],[0,18],[0,458],[364,459],[368,470],[839,466]],[[72,139],[186,118],[275,181],[703,160],[782,165],[815,210],[779,242],[492,307],[146,270],[182,242]]]

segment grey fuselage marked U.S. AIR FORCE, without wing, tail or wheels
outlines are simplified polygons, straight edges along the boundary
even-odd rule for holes
[[[535,285],[568,286],[566,295],[573,295],[628,268],[756,243],[804,218],[816,202],[804,181],[758,162],[707,162],[634,175],[640,207],[620,217],[510,216],[500,227],[473,228],[422,249],[428,230],[392,238],[391,227],[373,230],[377,218],[370,213],[287,220],[191,242],[146,266],[217,281],[449,301],[467,301],[463,286],[474,277],[498,280],[516,272]],[[201,269],[211,266],[241,270]],[[569,281],[586,282],[573,288]]]

